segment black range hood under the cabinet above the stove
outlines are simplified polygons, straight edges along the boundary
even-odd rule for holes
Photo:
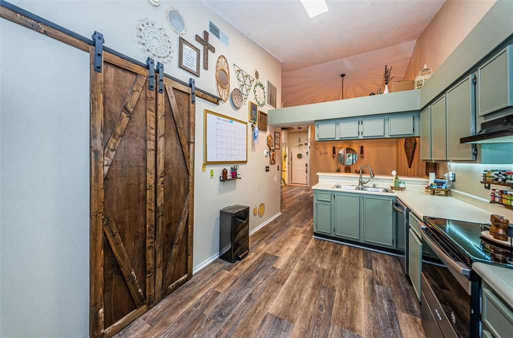
[[[513,114],[483,122],[479,133],[460,138],[460,143],[505,142],[513,142]]]

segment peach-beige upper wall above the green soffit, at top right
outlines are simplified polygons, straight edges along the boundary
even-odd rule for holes
[[[448,0],[417,39],[404,74],[413,80],[426,64],[436,71],[496,0]]]

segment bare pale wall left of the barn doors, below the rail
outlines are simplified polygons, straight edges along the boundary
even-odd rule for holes
[[[89,57],[0,23],[0,336],[87,336]]]

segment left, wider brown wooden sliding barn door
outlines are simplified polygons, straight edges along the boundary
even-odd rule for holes
[[[147,70],[91,53],[91,337],[154,303],[155,92]]]

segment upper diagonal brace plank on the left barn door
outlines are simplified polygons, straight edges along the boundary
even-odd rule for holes
[[[130,121],[133,109],[135,107],[135,104],[139,100],[139,96],[141,95],[141,91],[143,90],[143,86],[145,85],[145,83],[146,77],[143,75],[137,75],[135,77],[135,80],[133,81],[133,85],[130,89],[130,92],[128,93],[128,96],[125,99],[123,109],[121,110],[120,116],[116,120],[116,124],[114,125],[114,129],[112,130],[112,134],[110,135],[109,141],[105,146],[104,177],[107,176],[107,172],[109,171],[112,159],[116,154],[117,146],[120,145],[121,138],[125,133],[126,126]]]

